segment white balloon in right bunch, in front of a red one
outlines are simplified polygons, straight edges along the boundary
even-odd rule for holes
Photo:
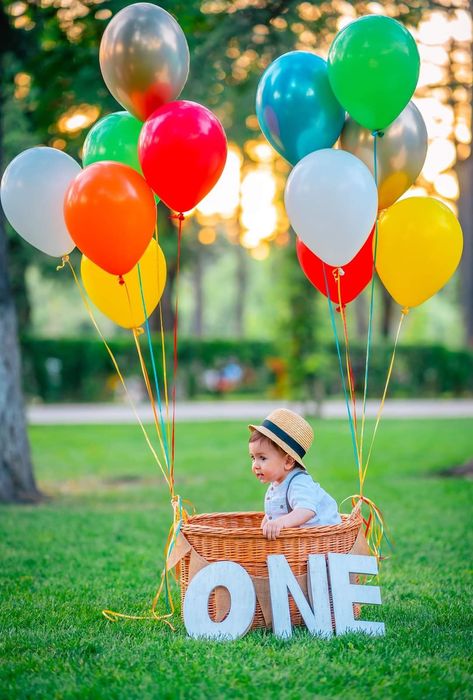
[[[361,160],[326,148],[295,166],[284,202],[291,226],[306,246],[325,263],[340,267],[356,255],[373,228],[378,193]]]

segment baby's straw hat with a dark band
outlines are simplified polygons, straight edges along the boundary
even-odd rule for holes
[[[277,408],[264,419],[261,425],[248,427],[252,432],[257,430],[275,442],[305,469],[302,459],[312,445],[314,431],[302,416],[288,408]]]

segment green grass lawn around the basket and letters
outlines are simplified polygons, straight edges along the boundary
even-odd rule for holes
[[[356,490],[347,424],[316,422],[313,473],[339,501]],[[372,428],[372,425],[370,425]],[[256,632],[228,644],[143,613],[170,523],[165,484],[133,426],[36,427],[42,505],[0,509],[2,698],[472,697],[473,483],[436,476],[471,458],[466,420],[389,421],[366,494],[396,541],[382,565],[386,637],[289,642]],[[177,491],[200,512],[261,509],[243,423],[178,424]]]

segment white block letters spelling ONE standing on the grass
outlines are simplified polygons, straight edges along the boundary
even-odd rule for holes
[[[329,553],[326,558],[324,554],[311,554],[307,561],[309,600],[282,554],[268,556],[268,571],[273,632],[277,637],[288,639],[292,635],[289,593],[311,634],[333,635],[328,577],[336,633],[384,635],[382,622],[355,620],[353,614],[354,603],[381,604],[378,586],[350,583],[350,574],[377,574],[376,557]],[[215,622],[210,618],[208,602],[212,591],[219,586],[228,590],[231,606],[227,617]],[[190,637],[238,639],[250,628],[255,609],[256,593],[247,571],[234,562],[215,562],[201,569],[191,580],[184,598],[184,624]]]

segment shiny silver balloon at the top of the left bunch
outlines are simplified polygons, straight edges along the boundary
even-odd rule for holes
[[[175,100],[189,74],[189,47],[176,20],[157,5],[120,10],[100,43],[100,69],[115,99],[145,121]]]

